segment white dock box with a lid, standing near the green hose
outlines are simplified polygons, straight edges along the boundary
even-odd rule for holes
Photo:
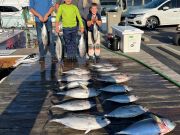
[[[141,35],[144,31],[132,26],[112,26],[113,35],[121,38],[120,50],[126,52],[140,52]]]

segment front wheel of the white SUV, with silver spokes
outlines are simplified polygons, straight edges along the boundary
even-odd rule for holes
[[[159,20],[157,17],[154,17],[154,16],[149,17],[146,21],[146,27],[148,29],[151,29],[151,30],[155,29],[158,25],[159,25]]]

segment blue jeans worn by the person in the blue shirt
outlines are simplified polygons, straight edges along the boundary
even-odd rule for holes
[[[54,41],[53,41],[53,34],[52,34],[52,22],[47,21],[45,22],[47,33],[48,33],[48,48],[50,50],[51,56],[55,57],[55,46],[54,46]],[[44,47],[43,42],[42,42],[42,27],[43,23],[42,22],[36,22],[36,31],[37,31],[37,38],[38,38],[38,45],[39,45],[39,53],[40,57],[45,57],[47,53],[47,48]]]

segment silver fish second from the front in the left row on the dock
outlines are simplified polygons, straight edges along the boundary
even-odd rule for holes
[[[61,103],[58,105],[53,105],[52,108],[61,108],[66,111],[82,111],[88,110],[94,107],[96,104],[90,102],[88,100],[73,100],[73,101],[66,101],[65,103]]]

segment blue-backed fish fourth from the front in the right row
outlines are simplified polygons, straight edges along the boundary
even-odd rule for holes
[[[106,91],[106,92],[113,92],[113,93],[123,93],[123,92],[131,91],[132,88],[126,85],[114,84],[114,85],[109,85],[107,87],[101,88],[99,90]]]

